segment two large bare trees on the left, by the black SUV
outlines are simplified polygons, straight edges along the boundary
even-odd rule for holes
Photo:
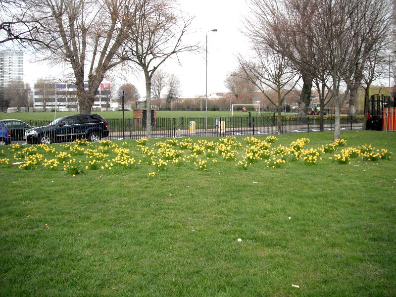
[[[105,74],[121,64],[143,71],[150,106],[156,70],[171,56],[198,49],[183,42],[192,17],[174,0],[1,1],[1,42],[29,45],[54,64],[66,63],[75,78],[80,113],[90,113]],[[148,137],[150,115],[148,110]]]

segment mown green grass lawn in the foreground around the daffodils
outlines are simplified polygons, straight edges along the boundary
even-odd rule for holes
[[[334,161],[365,144],[396,152],[395,136],[345,132],[347,145],[315,165],[285,155],[278,168],[258,160],[247,170],[236,166],[243,138],[194,139],[186,147],[197,156],[181,139],[3,147],[0,296],[395,296],[395,155]],[[277,137],[271,156],[297,138],[307,149],[331,144],[333,133]],[[207,160],[202,146],[224,155]],[[158,171],[172,150],[179,162]],[[4,161],[37,153],[35,170]],[[65,163],[51,170],[45,158]],[[73,158],[82,174],[72,176]]]

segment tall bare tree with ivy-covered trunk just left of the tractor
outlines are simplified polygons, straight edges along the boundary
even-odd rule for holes
[[[250,0],[250,14],[245,20],[245,33],[251,40],[282,52],[300,71],[303,82],[298,108],[300,115],[307,113],[312,95],[313,52],[307,32],[316,2]]]

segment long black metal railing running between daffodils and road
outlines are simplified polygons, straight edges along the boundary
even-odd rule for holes
[[[320,116],[281,116],[281,134],[311,133],[322,131],[334,131],[334,116],[325,115],[323,128],[320,125]],[[124,124],[122,119],[106,119],[107,133],[94,133],[94,129],[88,132],[87,127],[83,130],[76,125],[69,130],[66,127],[59,128],[55,133],[51,132],[49,141],[70,142],[75,139],[89,138],[97,140],[105,138],[111,140],[139,139],[146,137],[146,122],[143,119],[126,118]],[[341,116],[342,130],[360,130],[363,116]],[[46,126],[49,121],[30,120],[27,123],[34,127]],[[11,127],[12,129],[12,127]],[[59,131],[62,130],[62,131]],[[64,130],[64,131],[63,131]],[[87,130],[88,131],[88,130]],[[91,133],[92,132],[92,133]],[[253,136],[278,133],[278,117],[275,115],[264,116],[228,116],[208,117],[207,126],[205,117],[172,117],[156,118],[151,125],[152,138],[174,138],[174,137],[223,137],[223,136]],[[95,134],[95,135],[94,135]],[[11,133],[13,142],[24,142],[25,131],[18,130]]]

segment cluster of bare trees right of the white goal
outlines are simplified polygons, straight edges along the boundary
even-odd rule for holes
[[[334,139],[338,139],[341,105],[347,101],[349,114],[354,115],[358,88],[363,87],[368,95],[373,81],[390,68],[391,54],[394,55],[390,49],[395,40],[394,1],[247,3],[249,14],[244,32],[250,40],[251,55],[238,55],[239,68],[228,79],[235,84],[238,80],[250,82],[276,106],[278,132],[288,91],[302,82],[299,113],[306,114],[312,89],[316,89],[322,111],[330,99],[334,102]],[[235,87],[226,84],[234,92]],[[275,99],[270,96],[274,93]]]

